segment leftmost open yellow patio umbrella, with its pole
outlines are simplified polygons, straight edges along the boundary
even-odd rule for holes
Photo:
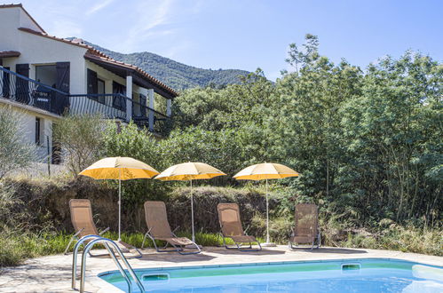
[[[144,162],[130,157],[117,156],[94,162],[79,174],[94,179],[118,180],[118,241],[120,242],[122,240],[122,180],[153,178],[159,172]]]

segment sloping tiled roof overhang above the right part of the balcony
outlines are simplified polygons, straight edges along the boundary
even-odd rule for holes
[[[84,54],[84,59],[88,59],[92,63],[95,63],[100,67],[103,67],[108,71],[114,73],[115,75],[119,75],[123,78],[131,75],[133,83],[146,89],[154,89],[154,92],[158,93],[166,99],[174,99],[178,96],[178,93],[176,91],[173,91],[172,89],[170,89],[170,87],[159,82],[154,77],[147,75],[138,67],[131,66],[131,64],[115,61],[115,59],[100,58],[99,56],[90,53]]]

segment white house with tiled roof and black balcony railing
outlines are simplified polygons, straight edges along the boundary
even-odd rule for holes
[[[154,95],[166,113],[154,110]],[[178,93],[139,67],[81,40],[49,36],[21,4],[0,5],[0,107],[25,110],[26,139],[53,152],[51,125],[66,113],[131,120],[155,135]]]

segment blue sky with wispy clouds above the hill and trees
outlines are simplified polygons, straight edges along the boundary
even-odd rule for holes
[[[407,49],[443,60],[440,0],[22,0],[50,34],[114,51],[151,51],[203,68],[287,68],[290,43],[320,37],[320,54],[366,67]]]

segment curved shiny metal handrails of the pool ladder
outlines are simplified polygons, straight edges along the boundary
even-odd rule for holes
[[[102,243],[107,251],[109,252],[109,256],[114,260],[115,265],[117,266],[120,273],[122,273],[122,276],[126,283],[128,284],[129,292],[132,292],[132,283],[129,275],[124,271],[122,264],[118,261],[117,257],[115,256],[114,250],[109,246],[113,246],[114,249],[118,252],[118,255],[122,257],[123,264],[126,266],[126,269],[130,273],[132,279],[136,282],[138,289],[140,289],[141,292],[145,292],[145,287],[138,279],[136,273],[134,273],[134,270],[132,269],[130,263],[124,257],[122,249],[118,247],[118,245],[113,242],[110,239],[107,239],[105,237],[101,237],[99,235],[86,235],[82,239],[80,239],[77,243],[75,243],[74,253],[73,253],[73,262],[72,262],[72,289],[75,289],[75,281],[77,277],[77,255],[78,255],[78,249],[80,248],[80,245],[83,244],[85,241],[89,242],[83,249],[82,254],[82,266],[81,266],[81,274],[80,274],[80,292],[84,292],[84,279],[85,279],[85,272],[86,272],[86,257],[88,255],[88,252],[92,249],[92,247],[97,243]]]

